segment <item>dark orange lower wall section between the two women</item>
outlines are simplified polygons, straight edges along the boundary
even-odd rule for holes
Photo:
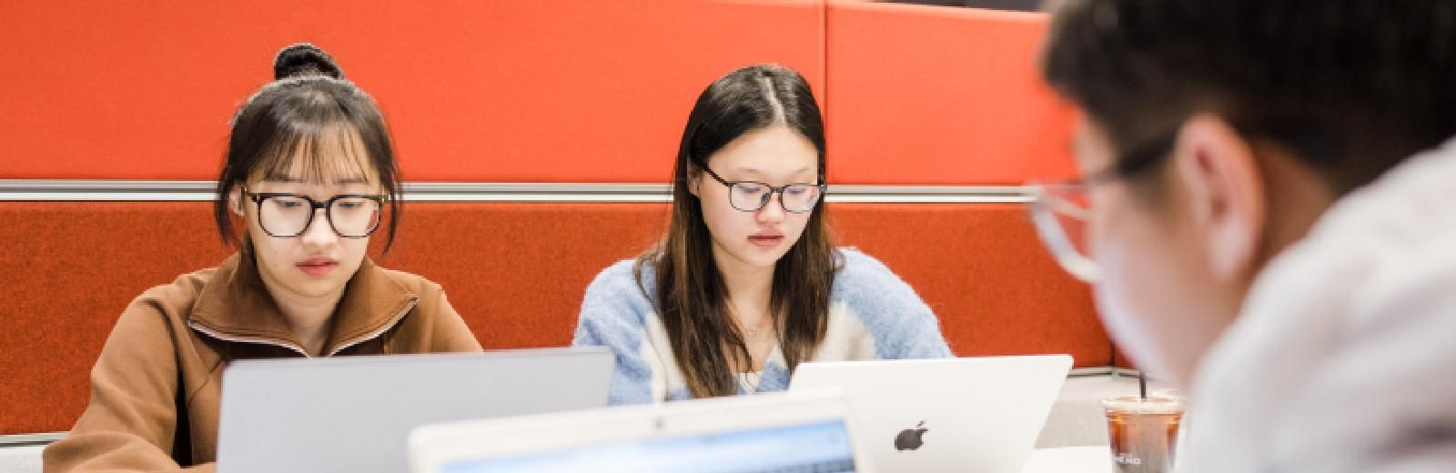
[[[446,288],[488,349],[563,346],[587,284],[648,249],[662,204],[411,204],[381,265]]]

